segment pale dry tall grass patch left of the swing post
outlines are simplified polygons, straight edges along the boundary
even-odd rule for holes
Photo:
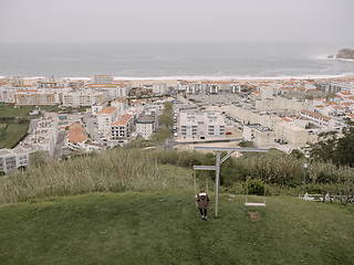
[[[18,202],[93,191],[189,189],[192,180],[186,169],[159,166],[150,151],[115,149],[29,167],[2,177],[0,184],[0,202]]]

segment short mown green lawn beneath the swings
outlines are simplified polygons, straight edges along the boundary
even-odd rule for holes
[[[214,198],[212,198],[214,199]],[[221,194],[91,193],[0,205],[0,264],[352,264],[353,205]],[[212,203],[214,208],[214,203]],[[259,221],[249,212],[258,211]]]

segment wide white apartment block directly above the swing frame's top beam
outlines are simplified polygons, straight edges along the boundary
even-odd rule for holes
[[[178,123],[178,139],[223,139],[226,135],[226,124],[219,113],[181,112]]]

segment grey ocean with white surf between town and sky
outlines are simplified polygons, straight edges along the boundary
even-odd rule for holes
[[[354,60],[335,59],[343,47],[354,43],[2,43],[0,76],[242,80],[354,74]]]

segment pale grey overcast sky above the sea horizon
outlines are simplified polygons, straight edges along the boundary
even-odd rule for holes
[[[354,42],[354,0],[0,0],[1,42]]]

